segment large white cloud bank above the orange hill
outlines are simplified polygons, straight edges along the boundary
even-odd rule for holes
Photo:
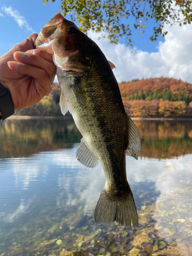
[[[192,26],[175,25],[165,28],[168,34],[160,42],[158,52],[132,52],[123,44],[111,45],[109,39],[98,40],[98,34],[89,32],[101,48],[106,58],[114,63],[114,74],[118,80],[128,81],[133,78],[173,77],[192,83]]]

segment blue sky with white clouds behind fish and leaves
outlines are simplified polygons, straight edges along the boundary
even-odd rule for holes
[[[60,11],[60,4],[59,0],[45,5],[42,0],[1,0],[0,56],[33,32],[39,33],[56,11]],[[128,21],[130,25],[133,24],[130,18]],[[114,74],[118,82],[163,76],[192,83],[192,26],[167,26],[165,38],[159,36],[157,41],[151,42],[150,36],[156,23],[150,19],[146,25],[144,34],[133,29],[132,39],[136,51],[126,47],[123,39],[118,45],[111,45],[108,38],[98,40],[99,34],[90,31],[88,35],[116,66]]]

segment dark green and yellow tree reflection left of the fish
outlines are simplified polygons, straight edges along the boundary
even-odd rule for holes
[[[72,118],[6,120],[0,123],[0,156],[23,157],[72,147],[81,135]]]

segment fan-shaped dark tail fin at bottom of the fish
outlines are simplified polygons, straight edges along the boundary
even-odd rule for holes
[[[137,227],[138,215],[131,188],[118,193],[108,193],[104,188],[101,191],[95,208],[96,223],[112,223]]]

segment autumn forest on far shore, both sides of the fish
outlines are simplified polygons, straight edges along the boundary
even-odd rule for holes
[[[131,117],[192,117],[192,84],[174,78],[133,79],[119,83],[124,108]],[[62,116],[60,86],[37,104],[16,115]],[[69,112],[66,115],[70,115]]]

